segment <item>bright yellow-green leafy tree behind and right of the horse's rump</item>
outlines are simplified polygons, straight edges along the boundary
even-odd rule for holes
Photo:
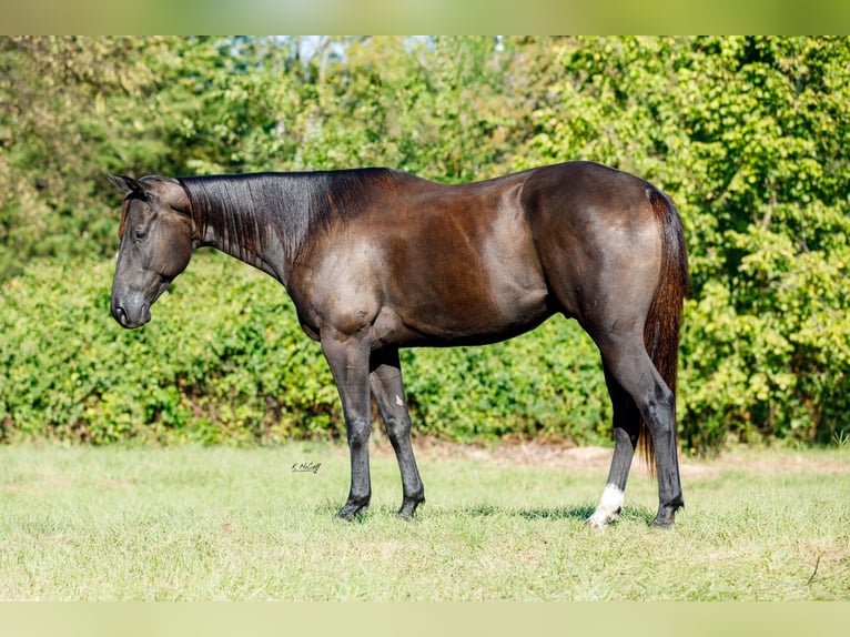
[[[847,427],[847,38],[589,38],[520,166],[585,158],[674,195],[691,300],[686,446],[828,443]]]

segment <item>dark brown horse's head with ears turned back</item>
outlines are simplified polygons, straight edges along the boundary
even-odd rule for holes
[[[151,320],[151,305],[189,265],[192,219],[183,186],[173,179],[109,175],[124,193],[112,316],[123,327]]]

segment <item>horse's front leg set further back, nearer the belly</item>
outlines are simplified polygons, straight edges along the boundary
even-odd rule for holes
[[[411,445],[411,415],[407,412],[397,350],[377,354],[377,358],[373,361],[370,383],[402,472],[404,499],[398,515],[409,518],[413,517],[416,507],[425,502],[425,487],[419,478]]]

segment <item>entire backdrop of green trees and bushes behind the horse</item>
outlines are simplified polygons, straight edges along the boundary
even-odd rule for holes
[[[135,376],[103,367],[119,354],[84,350],[87,338],[118,334],[105,266],[71,265],[114,253],[119,195],[105,172],[388,165],[458,182],[589,159],[661,186],[684,219],[685,446],[842,439],[849,67],[846,37],[1,38],[7,432],[338,433],[330,376],[317,350],[302,350],[285,294],[257,293],[241,274],[222,274],[233,281],[222,290],[200,273],[182,277],[168,296],[174,323],[105,343],[134,352],[121,365]],[[70,294],[69,275],[89,296]],[[183,290],[204,309],[180,305]],[[73,332],[45,314],[67,297]],[[95,301],[97,312],[87,305]],[[269,312],[286,317],[285,332],[269,327]],[[166,325],[191,326],[200,341]],[[289,355],[301,368],[284,377]],[[411,402],[429,432],[596,439],[608,431],[595,347],[569,323],[483,350],[405,356]],[[161,368],[148,378],[154,360]],[[90,421],[97,436],[80,428]]]

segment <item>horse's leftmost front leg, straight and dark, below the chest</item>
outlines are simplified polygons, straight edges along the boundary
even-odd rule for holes
[[[322,352],[331,366],[343,405],[351,454],[351,491],[338,517],[353,519],[372,497],[368,438],[372,433],[370,395],[370,350],[367,338],[338,333],[322,335]]]

